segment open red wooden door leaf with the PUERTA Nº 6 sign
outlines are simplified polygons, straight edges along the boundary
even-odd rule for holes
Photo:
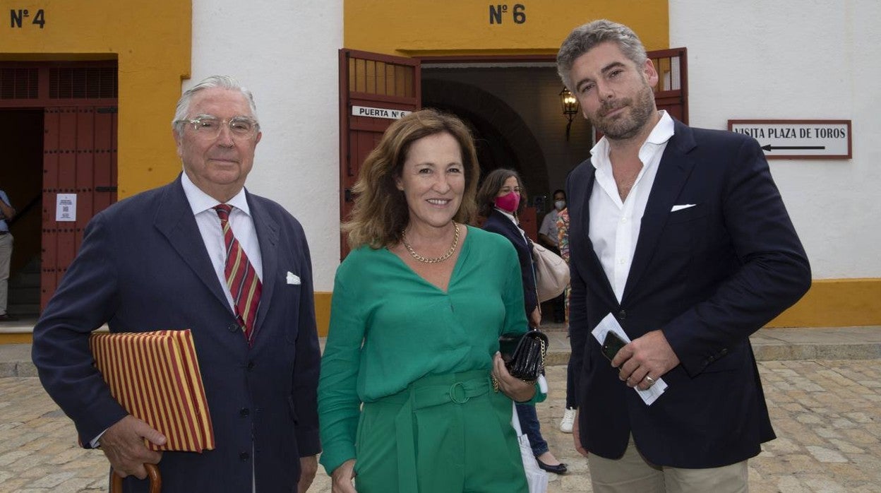
[[[419,62],[403,56],[339,50],[340,221],[352,212],[352,185],[361,163],[401,111],[422,100]],[[349,253],[340,235],[340,259]]]

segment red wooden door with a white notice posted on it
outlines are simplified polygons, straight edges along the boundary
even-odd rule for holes
[[[116,201],[117,181],[115,107],[46,108],[43,122],[41,310],[76,257],[86,223]],[[76,207],[59,205],[58,194],[74,194]],[[59,212],[74,220],[56,220]]]

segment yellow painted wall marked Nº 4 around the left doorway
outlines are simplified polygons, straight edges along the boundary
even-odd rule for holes
[[[9,9],[27,10],[21,27]],[[43,11],[42,28],[33,24]],[[189,1],[26,0],[0,9],[0,60],[119,63],[119,197],[168,183],[181,170],[171,138],[181,78],[189,78]]]

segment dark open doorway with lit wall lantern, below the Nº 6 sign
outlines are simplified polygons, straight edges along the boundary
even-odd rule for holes
[[[462,118],[474,131],[481,175],[512,168],[522,176],[529,207],[522,228],[537,235],[553,190],[589,156],[590,125],[576,116],[566,137],[563,85],[551,61],[498,58],[473,62],[422,60],[422,105]]]

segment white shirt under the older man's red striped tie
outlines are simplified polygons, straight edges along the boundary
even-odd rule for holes
[[[196,226],[199,227],[199,233],[205,243],[205,250],[208,250],[208,257],[211,258],[214,273],[217,274],[220,285],[224,287],[226,301],[235,311],[233,295],[230,294],[229,288],[226,288],[226,274],[224,274],[226,243],[223,239],[223,229],[220,228],[218,213],[213,209],[215,205],[220,203],[216,198],[211,198],[210,195],[196,187],[196,184],[189,180],[186,173],[181,175],[181,184],[189,206],[193,210],[193,215],[196,217]],[[245,189],[239,190],[239,193],[226,204],[233,206],[232,212],[229,213],[229,225],[230,228],[233,228],[233,235],[239,240],[239,244],[245,250],[245,255],[248,256],[251,265],[254,265],[257,278],[263,281],[263,257],[260,255],[260,243],[257,243],[257,233],[254,229],[254,220],[251,218],[248,200],[245,198]]]

